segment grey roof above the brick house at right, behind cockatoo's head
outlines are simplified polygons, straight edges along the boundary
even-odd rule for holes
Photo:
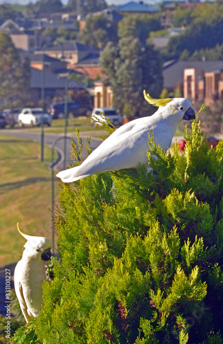
[[[223,69],[223,61],[173,61],[163,68],[164,88],[173,89],[184,82],[184,69],[195,68],[203,72],[218,72]]]

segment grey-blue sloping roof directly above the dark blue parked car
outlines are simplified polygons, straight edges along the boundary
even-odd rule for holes
[[[30,88],[31,89],[41,89],[42,87],[42,71],[36,68],[31,68],[32,70],[32,77]],[[45,89],[65,89],[66,79],[64,77],[60,77],[57,74],[45,72]],[[83,89],[83,83],[78,83],[74,80],[68,80],[68,89]]]

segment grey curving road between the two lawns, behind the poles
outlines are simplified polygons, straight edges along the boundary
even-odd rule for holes
[[[20,138],[28,138],[30,140],[34,140],[36,142],[41,142],[41,133],[34,133],[32,131],[28,131],[28,129],[4,129],[1,131],[3,134],[7,135],[12,135],[12,136],[17,136]],[[76,134],[72,134],[74,143],[77,144],[77,138]],[[81,138],[83,139],[83,144],[85,146],[85,143],[87,142],[87,136],[86,135],[81,135]],[[64,166],[68,165],[68,162],[71,161],[70,158],[70,151],[72,150],[71,148],[71,143],[72,143],[72,138],[71,134],[67,133],[67,139],[66,139],[66,153],[64,154],[64,135],[63,133],[59,134],[52,134],[52,133],[44,133],[44,144],[47,144],[47,146],[53,147],[55,151],[58,153],[58,158],[56,158],[56,154],[54,155],[54,162],[56,169],[62,170],[64,169]],[[96,149],[100,142],[102,140],[100,138],[91,138],[91,149],[94,150]],[[55,144],[56,143],[56,144]],[[85,158],[85,149],[83,149],[83,157]]]

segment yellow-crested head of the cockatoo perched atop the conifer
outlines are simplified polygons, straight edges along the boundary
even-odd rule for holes
[[[153,99],[145,91],[143,92],[145,100],[151,105],[162,108],[162,117],[172,116],[176,122],[180,120],[193,120],[195,112],[192,109],[190,100],[185,98],[165,98]]]

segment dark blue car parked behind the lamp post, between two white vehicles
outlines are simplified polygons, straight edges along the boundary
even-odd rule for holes
[[[67,114],[72,113],[74,117],[87,116],[87,113],[92,111],[92,108],[88,105],[81,105],[76,101],[67,102]],[[48,110],[50,116],[53,119],[64,118],[65,117],[65,102],[57,102],[50,105]]]

